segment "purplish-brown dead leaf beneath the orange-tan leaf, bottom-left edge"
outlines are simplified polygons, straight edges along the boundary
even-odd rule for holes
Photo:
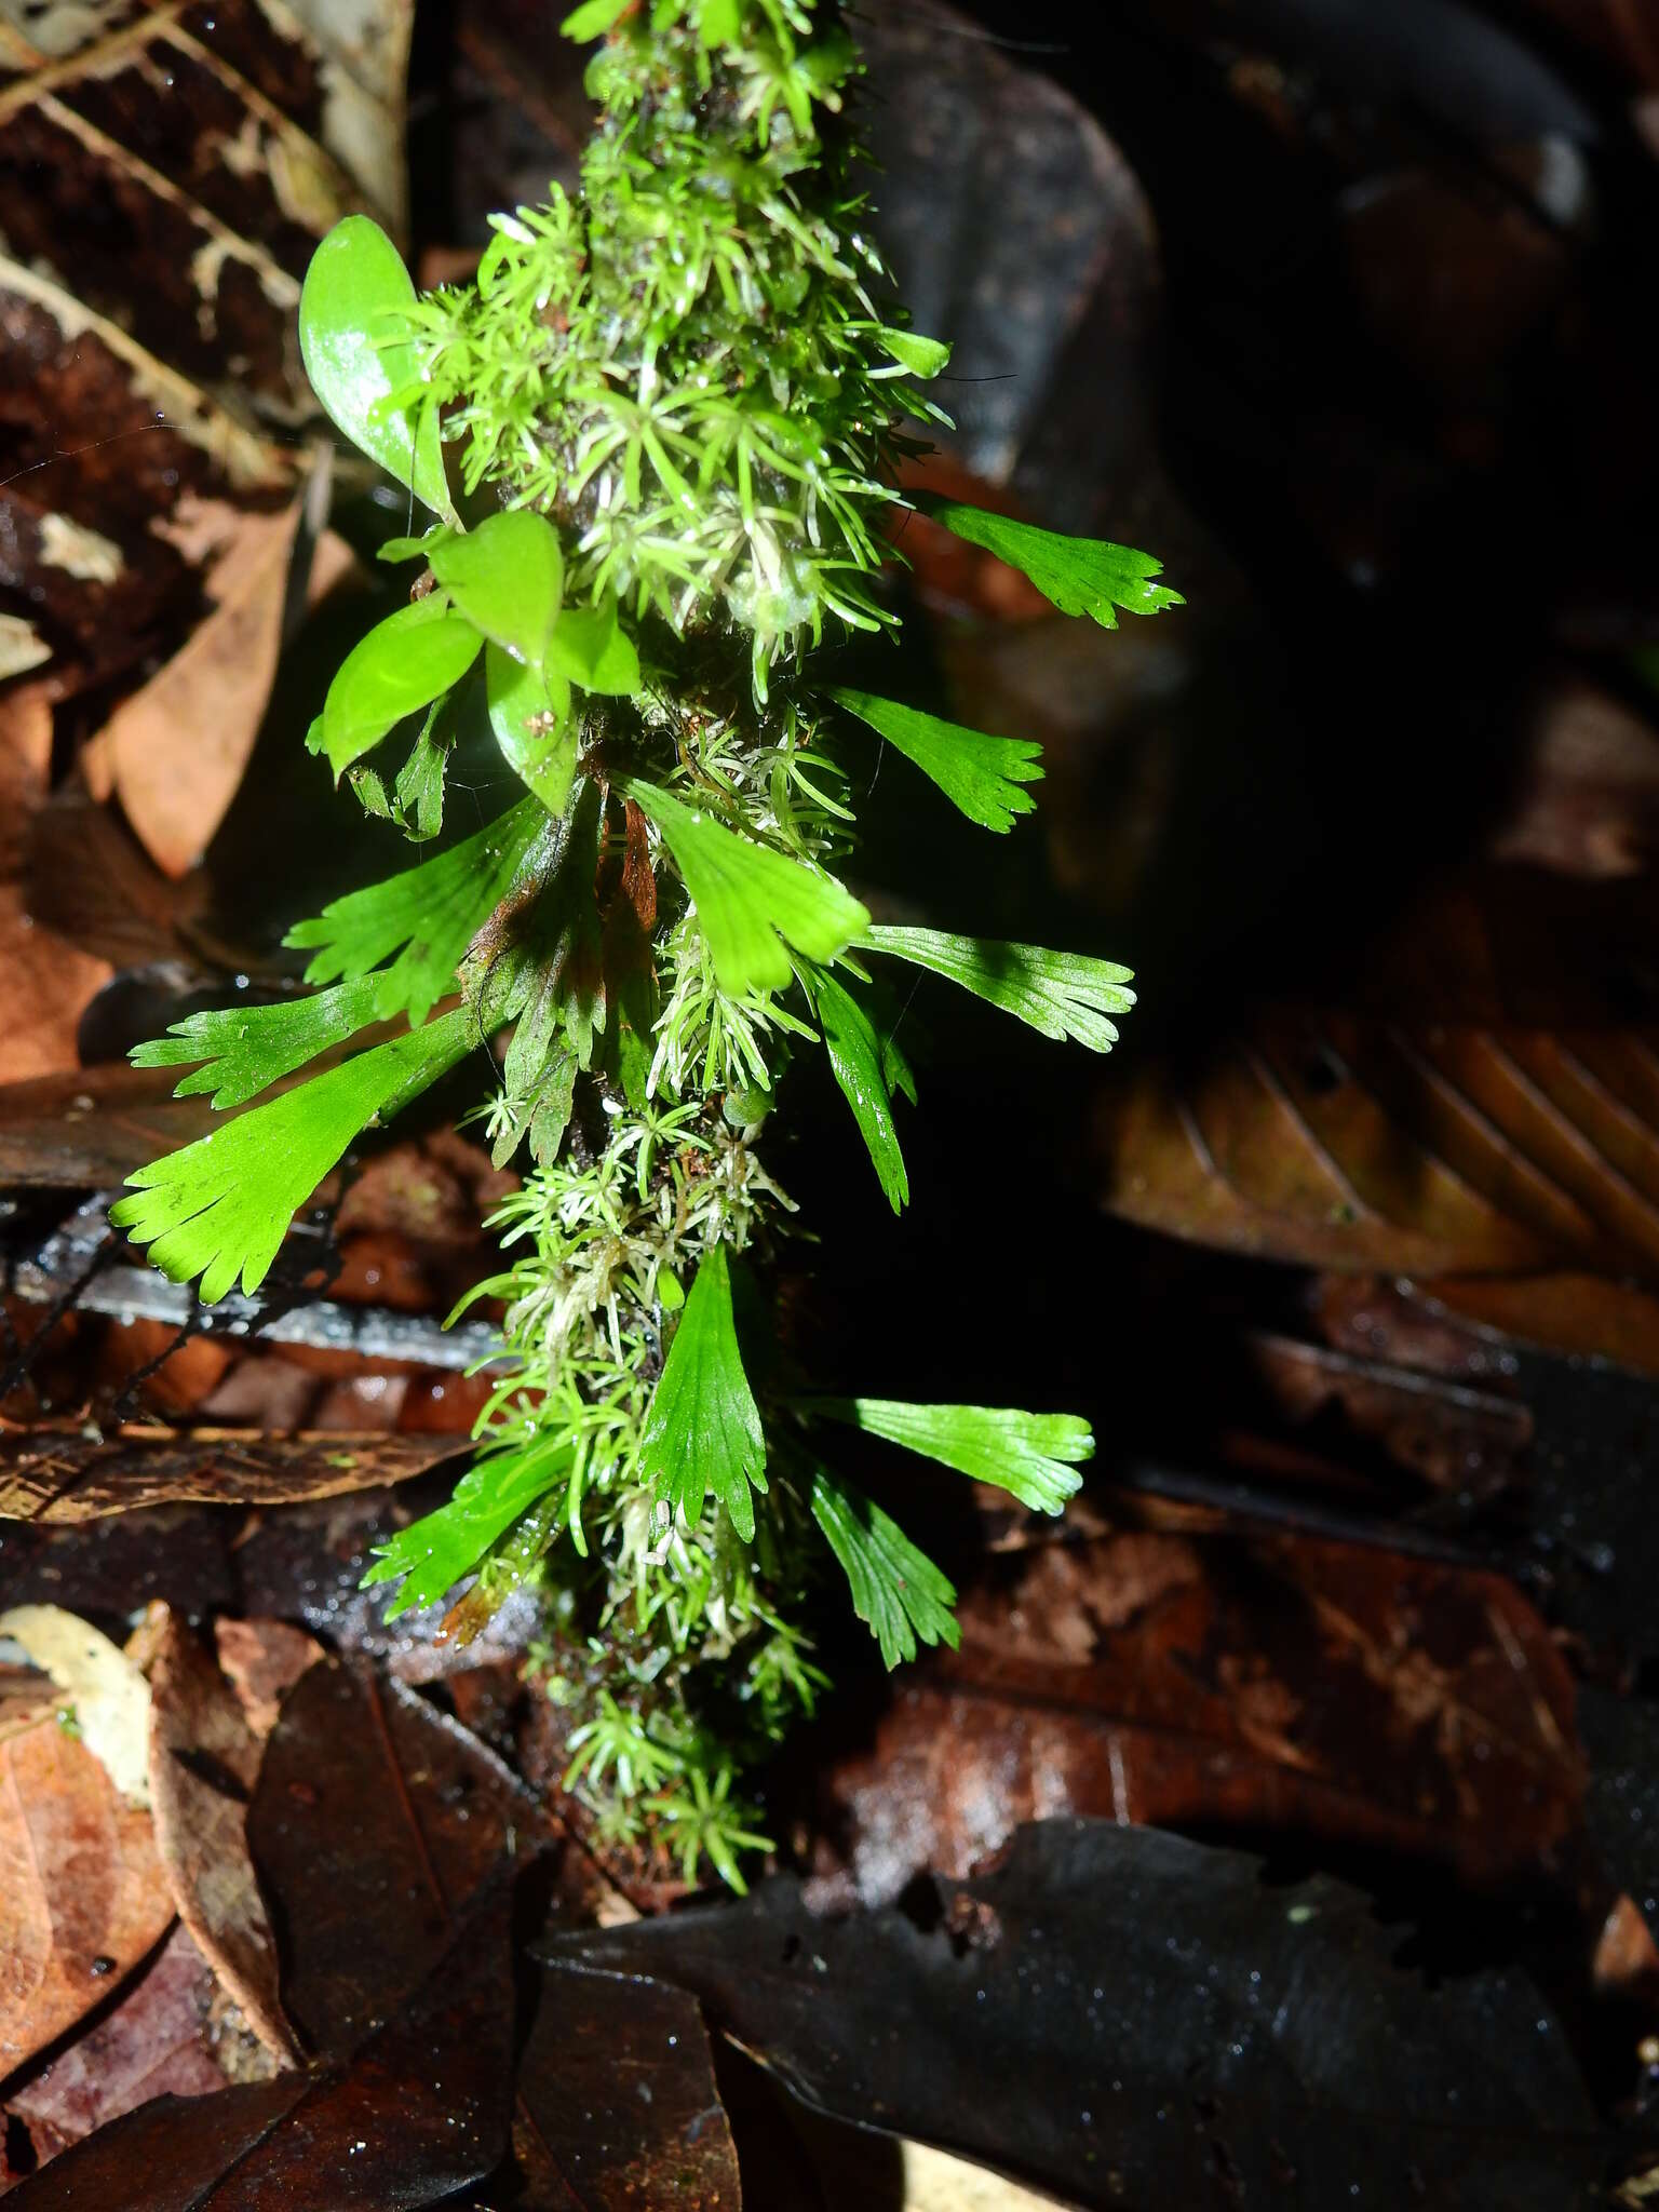
[[[215,1984],[208,1962],[175,1927],[157,1955],[100,2020],[60,2057],[20,2084],[4,2110],[29,2130],[38,2166],[80,2143],[122,2112],[150,2097],[206,2097],[226,2086],[234,2031],[215,2022]],[[241,2075],[246,2079],[246,2075]]]

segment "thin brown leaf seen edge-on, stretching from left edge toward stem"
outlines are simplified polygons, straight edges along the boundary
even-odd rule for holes
[[[155,1504],[292,1504],[407,1482],[460,1449],[453,1436],[338,1429],[69,1427],[0,1431],[0,1520],[80,1522]]]

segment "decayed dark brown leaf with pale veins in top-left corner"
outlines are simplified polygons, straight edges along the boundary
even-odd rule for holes
[[[263,557],[290,440],[316,418],[305,263],[338,217],[403,208],[411,7],[46,4],[24,22],[0,69],[0,670],[42,668],[66,697],[166,661],[212,562]],[[223,568],[217,597],[239,597]]]

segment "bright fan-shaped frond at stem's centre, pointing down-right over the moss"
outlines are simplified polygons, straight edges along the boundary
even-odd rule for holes
[[[792,975],[785,945],[807,960],[834,960],[869,927],[869,909],[834,876],[739,836],[657,783],[630,776],[624,790],[661,830],[697,905],[714,975],[732,998],[781,991]]]

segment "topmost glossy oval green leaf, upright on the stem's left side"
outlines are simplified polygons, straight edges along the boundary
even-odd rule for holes
[[[407,484],[447,522],[456,509],[445,480],[438,409],[387,407],[416,374],[398,330],[416,288],[392,239],[367,215],[347,215],[312,254],[299,296],[305,374],[352,445]]]

